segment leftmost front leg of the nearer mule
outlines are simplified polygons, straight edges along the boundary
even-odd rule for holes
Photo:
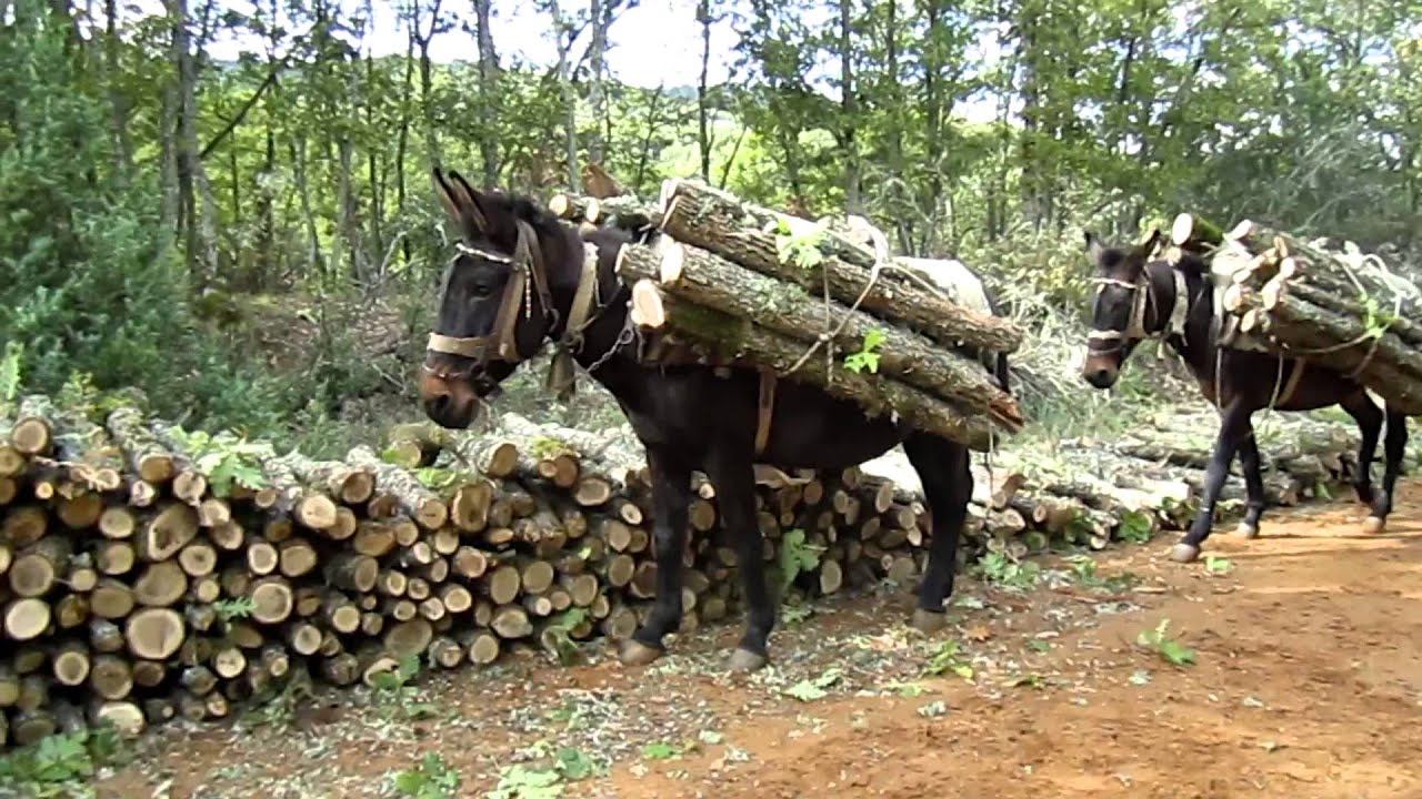
[[[657,597],[637,633],[621,645],[619,660],[646,665],[667,648],[661,638],[681,626],[681,553],[687,547],[691,468],[674,456],[647,451],[651,472],[651,539],[657,556]]]

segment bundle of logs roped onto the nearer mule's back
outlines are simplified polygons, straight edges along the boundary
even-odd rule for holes
[[[549,208],[644,233],[623,246],[619,273],[650,358],[772,370],[974,449],[1024,424],[991,360],[1022,331],[960,294],[960,274],[936,269],[947,262],[886,257],[848,223],[700,181],[667,181],[656,205],[557,195]]]

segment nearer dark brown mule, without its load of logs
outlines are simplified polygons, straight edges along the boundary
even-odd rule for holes
[[[693,471],[702,471],[715,483],[721,523],[738,556],[749,613],[731,665],[749,670],[766,661],[775,626],[752,463],[846,468],[900,442],[923,481],[933,518],[913,623],[923,630],[943,626],[958,530],[973,495],[967,448],[889,418],[866,418],[852,402],[781,381],[769,438],[757,458],[761,382],[755,372],[735,370],[722,377],[705,365],[638,361],[629,291],[616,274],[617,252],[633,240],[631,233],[599,229],[580,235],[532,202],[478,192],[455,172],[447,179],[435,171],[435,186],[461,242],[445,276],[437,333],[419,382],[429,418],[448,428],[468,427],[481,398],[533,357],[545,340],[553,340],[616,397],[646,446],[657,596],[646,623],[623,644],[623,663],[656,660],[664,651],[663,637],[681,623],[681,556]],[[593,247],[592,262],[584,260],[584,243]],[[1005,358],[998,365],[1005,374]]]

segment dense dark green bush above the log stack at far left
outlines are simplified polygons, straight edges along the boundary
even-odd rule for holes
[[[23,347],[26,388],[80,375],[189,424],[272,429],[297,402],[193,318],[156,171],[115,173],[107,101],[64,27],[43,3],[16,18],[0,38],[0,341]]]

